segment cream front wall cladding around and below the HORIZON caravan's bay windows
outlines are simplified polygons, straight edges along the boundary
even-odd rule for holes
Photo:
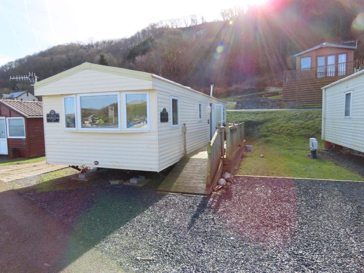
[[[60,114],[59,123],[44,123],[47,163],[95,166],[94,161],[98,161],[97,167],[158,171],[155,93],[150,91],[149,132],[65,131],[63,96],[44,96],[44,120],[50,110]],[[122,92],[120,100],[123,128]]]

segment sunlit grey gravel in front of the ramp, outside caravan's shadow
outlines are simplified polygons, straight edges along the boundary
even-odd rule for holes
[[[138,194],[150,206],[96,246],[127,272],[363,272],[363,182],[235,177],[221,196]]]

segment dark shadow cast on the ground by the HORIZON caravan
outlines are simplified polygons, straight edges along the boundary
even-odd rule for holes
[[[109,179],[87,185],[69,176],[0,191],[0,264],[7,272],[58,272],[165,196],[158,179],[144,187]]]

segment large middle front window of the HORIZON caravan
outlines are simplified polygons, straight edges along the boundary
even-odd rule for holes
[[[120,93],[79,95],[80,130],[119,131]]]

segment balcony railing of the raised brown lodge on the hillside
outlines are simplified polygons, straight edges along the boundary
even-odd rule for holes
[[[351,75],[360,69],[364,69],[364,60],[284,71],[284,82],[289,83],[324,77],[346,76]]]

